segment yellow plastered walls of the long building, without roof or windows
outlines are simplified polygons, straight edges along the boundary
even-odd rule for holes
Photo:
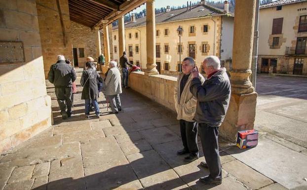
[[[214,21],[216,30],[214,33]],[[220,57],[220,43],[221,43],[221,30],[222,21],[221,16],[215,17],[205,17],[190,20],[182,20],[176,22],[159,23],[156,24],[156,30],[159,30],[159,36],[156,36],[156,45],[160,45],[160,58],[156,58],[156,62],[161,64],[161,73],[164,70],[164,63],[169,63],[169,71],[177,72],[177,64],[179,63],[179,37],[177,34],[178,26],[183,27],[183,35],[181,37],[181,44],[183,52],[181,54],[181,61],[189,56],[189,43],[195,43],[195,62],[198,67],[200,67],[203,59],[208,55],[216,55]],[[203,25],[208,25],[208,32],[203,33]],[[190,26],[194,26],[194,34],[189,35]],[[168,35],[164,35],[164,29],[168,29]],[[138,38],[135,38],[135,33],[138,32]],[[132,38],[129,38],[129,33],[131,33]],[[114,59],[119,60],[122,53],[118,52],[118,30],[112,31],[113,36],[113,48]],[[116,40],[114,40],[116,36]],[[214,38],[215,36],[215,38]],[[214,40],[215,39],[215,40]],[[207,53],[201,53],[201,44],[207,43],[209,46]],[[133,60],[135,64],[136,61],[140,61],[142,69],[146,69],[146,26],[137,28],[127,28],[125,29],[125,44],[126,53],[129,60]],[[139,53],[135,52],[135,45],[139,45]],[[164,44],[169,45],[169,52],[164,53]],[[133,46],[133,57],[129,57],[129,45]],[[114,52],[114,46],[117,47],[117,53]],[[215,48],[213,48],[215,47]]]

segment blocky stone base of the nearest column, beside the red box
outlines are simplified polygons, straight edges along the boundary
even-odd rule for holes
[[[257,93],[231,94],[229,108],[220,127],[220,135],[236,142],[238,131],[254,129]]]

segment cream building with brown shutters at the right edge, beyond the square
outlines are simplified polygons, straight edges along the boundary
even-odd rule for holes
[[[306,42],[307,1],[261,5],[257,73],[307,75]]]

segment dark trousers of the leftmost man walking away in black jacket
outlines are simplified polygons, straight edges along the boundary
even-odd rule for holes
[[[63,87],[63,88],[55,88],[55,95],[58,100],[58,104],[61,110],[61,114],[66,112],[67,107],[67,114],[72,113],[72,87]]]

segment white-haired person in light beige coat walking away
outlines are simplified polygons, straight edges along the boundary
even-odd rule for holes
[[[106,92],[105,95],[108,96],[108,99],[111,104],[110,114],[118,114],[118,111],[121,111],[120,97],[119,94],[122,93],[121,90],[121,76],[117,68],[117,63],[111,61],[109,64],[110,70],[106,77]]]

